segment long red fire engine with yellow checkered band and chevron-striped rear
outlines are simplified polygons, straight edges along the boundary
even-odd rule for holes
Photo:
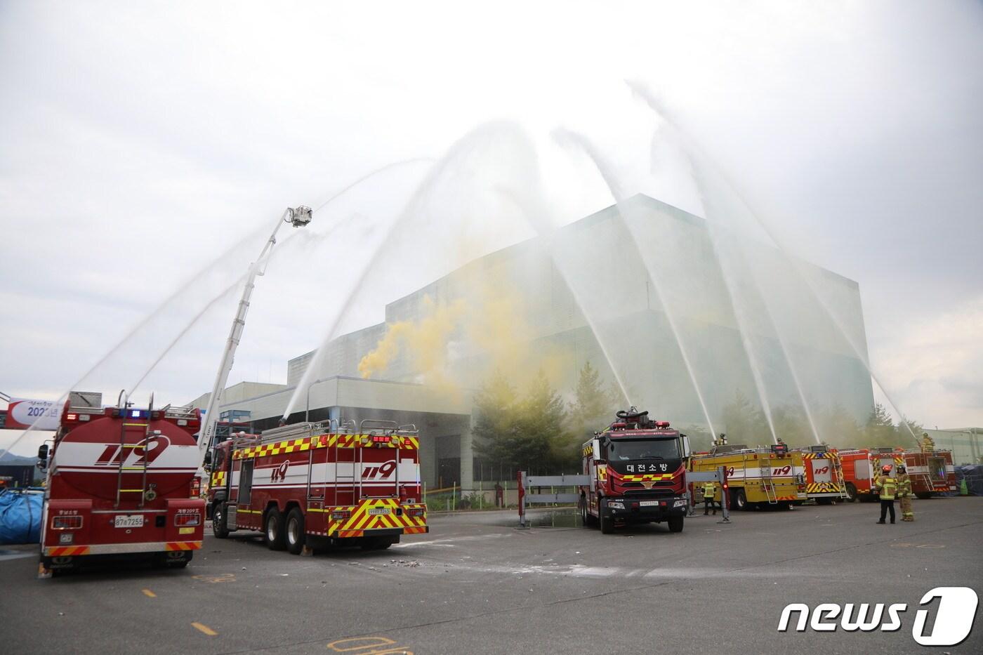
[[[385,549],[429,532],[417,429],[392,421],[298,423],[208,452],[212,530],[261,531],[271,550]]]

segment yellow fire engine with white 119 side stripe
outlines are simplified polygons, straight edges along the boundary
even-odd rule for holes
[[[771,447],[716,446],[694,453],[691,471],[714,471],[723,466],[730,506],[735,509],[778,506],[790,509],[806,500],[801,452],[789,452],[784,444]]]

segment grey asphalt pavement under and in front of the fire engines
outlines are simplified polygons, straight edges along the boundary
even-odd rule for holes
[[[915,502],[916,521],[877,525],[878,506],[702,511],[613,535],[569,510],[433,514],[431,533],[387,551],[314,557],[258,538],[207,537],[184,570],[143,566],[36,579],[36,546],[0,547],[0,652],[27,653],[980,653],[915,642],[940,586],[983,592],[983,498]],[[904,603],[901,627],[780,632],[804,603]],[[834,620],[835,621],[835,620]],[[882,623],[887,623],[887,616]]]

